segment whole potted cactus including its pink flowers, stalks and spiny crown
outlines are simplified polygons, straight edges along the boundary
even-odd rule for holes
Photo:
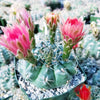
[[[49,38],[45,38],[44,35],[42,38],[45,40],[41,40],[39,45],[39,42],[35,43],[31,16],[25,9],[20,11],[22,15],[18,14],[20,18],[16,17],[18,23],[3,28],[4,35],[0,37],[0,44],[20,59],[17,63],[19,73],[36,87],[53,89],[66,85],[77,72],[76,60],[70,60],[69,56],[73,46],[84,36],[83,22],[77,18],[68,18],[61,25],[64,40],[56,42],[55,33],[59,16],[54,13],[47,15]],[[69,26],[68,29],[66,29],[67,26]],[[63,47],[64,42],[67,45]],[[67,53],[67,57],[63,59],[63,55]]]

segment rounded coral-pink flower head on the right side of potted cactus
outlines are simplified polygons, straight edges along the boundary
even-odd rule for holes
[[[68,39],[71,39],[73,44],[77,44],[84,36],[83,22],[77,18],[68,18],[66,22],[61,25],[61,31],[66,42]]]

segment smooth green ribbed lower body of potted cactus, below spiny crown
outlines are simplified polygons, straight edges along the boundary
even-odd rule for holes
[[[47,67],[46,64],[41,67],[33,67],[32,64],[20,60],[18,67],[25,79],[31,81],[39,88],[49,89],[66,84],[66,82],[76,73],[74,64],[72,61],[68,61],[64,65],[58,63],[52,66],[52,68]]]

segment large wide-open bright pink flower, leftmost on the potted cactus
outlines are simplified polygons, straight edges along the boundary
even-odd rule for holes
[[[30,49],[31,41],[27,27],[22,23],[2,28],[4,35],[0,37],[0,44],[9,49],[15,56],[20,51],[24,57]]]

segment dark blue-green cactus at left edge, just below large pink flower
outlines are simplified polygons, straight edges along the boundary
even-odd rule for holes
[[[10,64],[12,58],[12,54],[7,49],[0,46],[0,66]]]

